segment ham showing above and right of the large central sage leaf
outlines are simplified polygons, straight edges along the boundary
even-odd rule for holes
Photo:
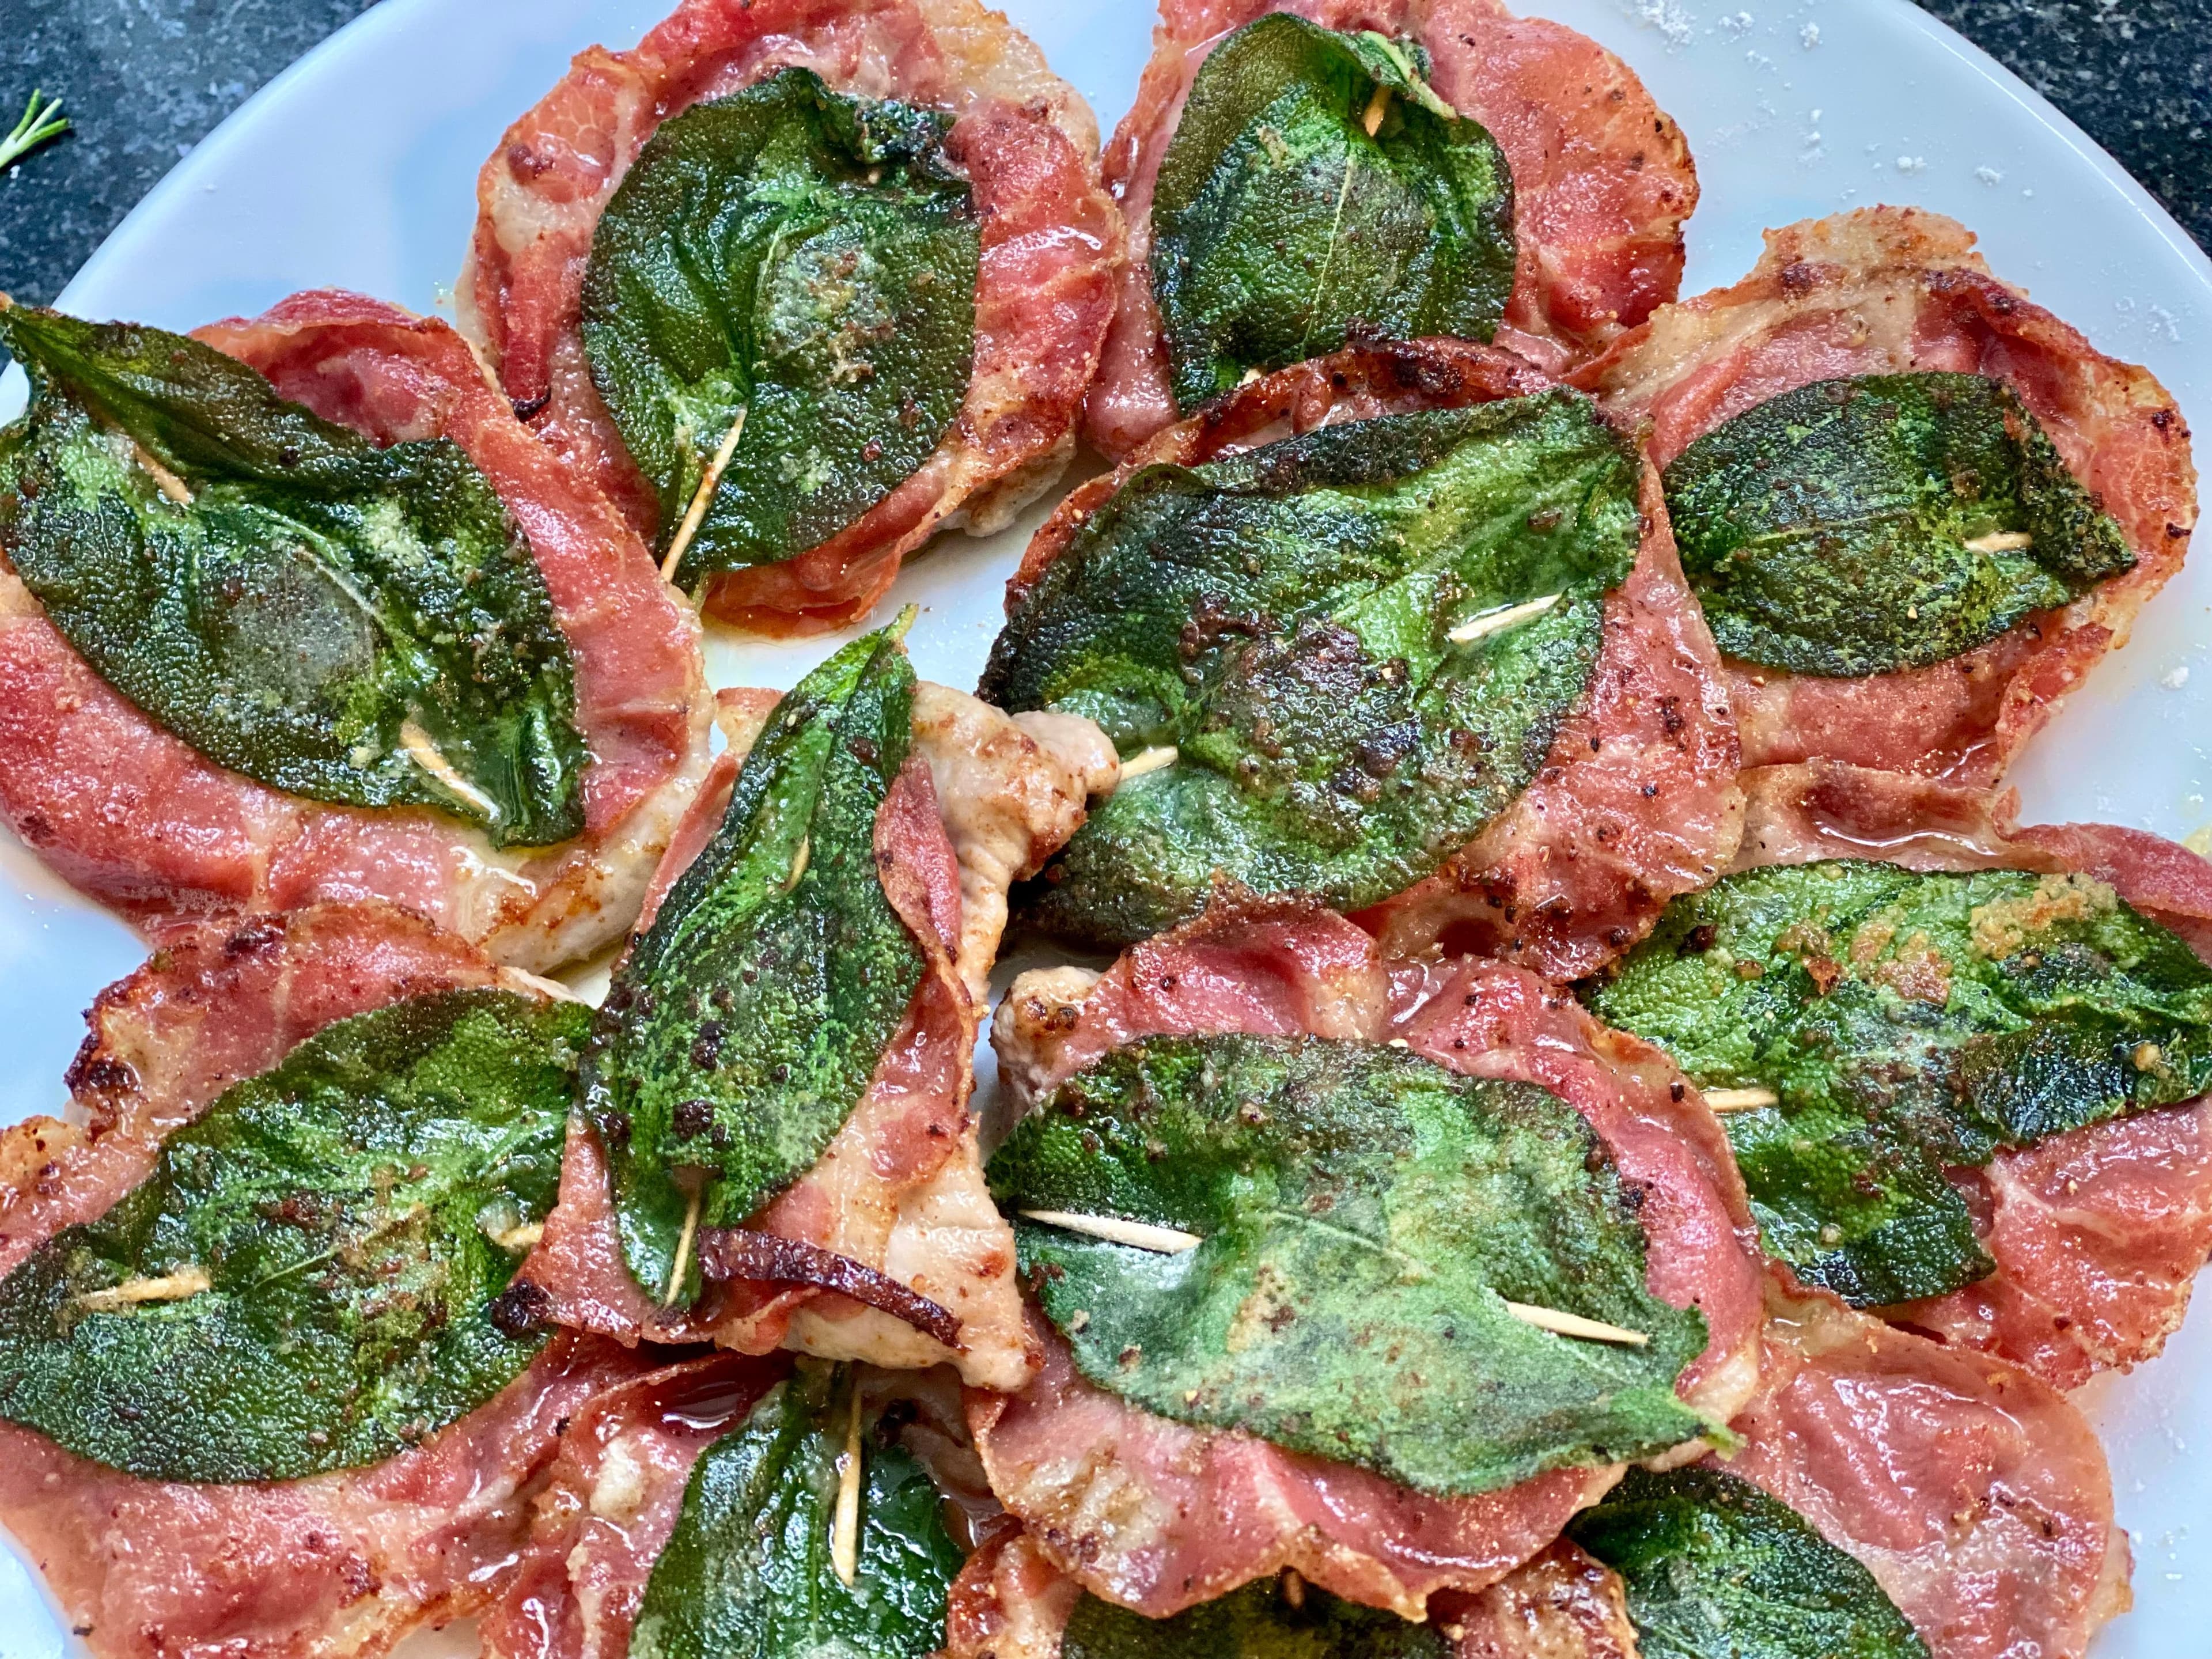
[[[1022,555],[1006,608],[1139,467],[1197,467],[1323,425],[1551,385],[1509,352],[1460,341],[1376,345],[1281,369],[1073,491]],[[1438,874],[1360,914],[1391,956],[1442,945],[1555,980],[1582,978],[1644,938],[1670,898],[1710,883],[1734,854],[1743,796],[1728,681],[1650,471],[1644,511],[1637,564],[1606,597],[1590,688],[1535,781]]]

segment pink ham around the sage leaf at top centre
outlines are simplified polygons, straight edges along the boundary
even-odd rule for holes
[[[1520,246],[1498,345],[1562,372],[1674,299],[1697,168],[1681,128],[1597,42],[1515,18],[1500,0],[1161,0],[1137,102],[1106,148],[1130,257],[1084,422],[1108,456],[1128,456],[1177,418],[1148,268],[1161,157],[1206,53],[1270,11],[1413,35],[1429,49],[1438,95],[1498,139]]]

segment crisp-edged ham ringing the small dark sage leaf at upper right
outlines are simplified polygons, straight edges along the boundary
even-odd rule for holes
[[[2181,568],[2197,471],[2174,400],[2148,369],[2104,356],[1997,281],[1973,241],[1913,208],[1770,230],[1741,283],[1666,307],[1575,374],[1648,425],[1659,467],[1816,380],[1986,374],[2020,394],[2135,551],[2126,575],[1931,668],[1816,679],[1732,664],[1745,765],[1832,759],[1991,783]]]

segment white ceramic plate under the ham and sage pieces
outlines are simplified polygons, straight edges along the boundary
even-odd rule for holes
[[[668,2],[383,0],[192,150],[60,303],[179,330],[314,285],[442,305],[476,215],[476,168],[500,133],[571,53],[635,42]],[[1150,0],[1004,4],[1110,128],[1150,49]],[[1743,274],[1765,226],[1874,201],[1938,208],[1982,232],[1997,274],[2099,347],[2148,363],[2212,431],[2212,263],[2088,137],[1907,0],[1524,9],[1621,53],[1690,135],[1705,197],[1686,292]],[[9,372],[0,418],[20,396]],[[909,646],[925,677],[975,681],[1000,584],[1037,518],[984,542],[949,538],[898,580],[883,613],[922,604]],[[2028,821],[2104,818],[2168,836],[2212,821],[2212,754],[2199,741],[2212,730],[2208,613],[2201,557],[2031,750],[2015,774]],[[723,637],[710,672],[726,686],[790,686],[832,646]],[[0,832],[0,1121],[62,1104],[82,1009],[139,953]],[[2084,1405],[2106,1436],[2137,1562],[2137,1610],[2097,1659],[2203,1652],[2212,1312],[2199,1307],[2161,1360],[2090,1387]],[[467,1650],[456,1635],[418,1639],[420,1652]],[[0,1659],[58,1659],[71,1646],[35,1579],[0,1551]]]

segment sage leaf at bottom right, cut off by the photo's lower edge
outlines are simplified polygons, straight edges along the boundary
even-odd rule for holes
[[[1646,1659],[1929,1659],[1865,1566],[1719,1469],[1630,1469],[1566,1535],[1621,1575]]]

